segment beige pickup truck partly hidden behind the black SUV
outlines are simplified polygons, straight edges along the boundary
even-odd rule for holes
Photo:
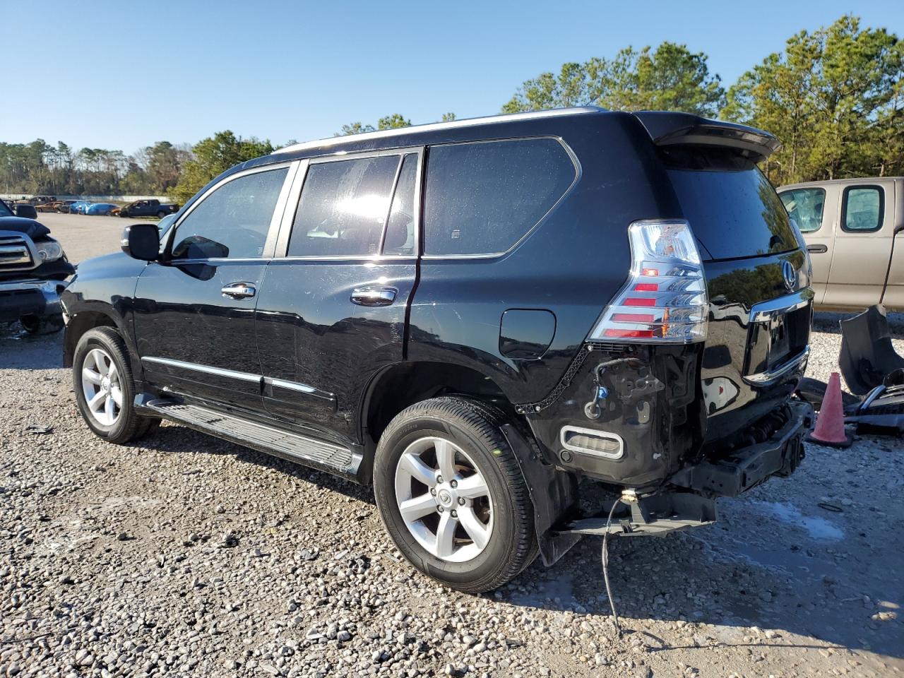
[[[777,189],[813,261],[815,305],[904,311],[904,177]]]

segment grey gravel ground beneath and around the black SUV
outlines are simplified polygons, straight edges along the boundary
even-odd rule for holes
[[[117,246],[118,220],[57,218],[67,248]],[[811,376],[833,369],[837,317],[817,318]],[[904,668],[895,438],[810,446],[795,476],[722,500],[719,523],[611,541],[618,638],[599,540],[494,594],[444,589],[401,560],[367,488],[175,425],[129,447],[93,437],[60,344],[0,325],[0,676]]]

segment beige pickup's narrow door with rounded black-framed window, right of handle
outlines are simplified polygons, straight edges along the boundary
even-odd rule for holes
[[[894,240],[894,182],[842,184],[825,306],[879,304]]]

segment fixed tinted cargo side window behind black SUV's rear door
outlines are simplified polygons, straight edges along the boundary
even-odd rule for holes
[[[509,250],[575,179],[554,139],[432,146],[424,206],[426,254]]]

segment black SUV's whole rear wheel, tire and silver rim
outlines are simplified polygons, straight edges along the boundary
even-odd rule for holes
[[[465,398],[425,400],[383,431],[373,485],[392,541],[418,570],[482,593],[536,555],[530,494],[500,426]]]

